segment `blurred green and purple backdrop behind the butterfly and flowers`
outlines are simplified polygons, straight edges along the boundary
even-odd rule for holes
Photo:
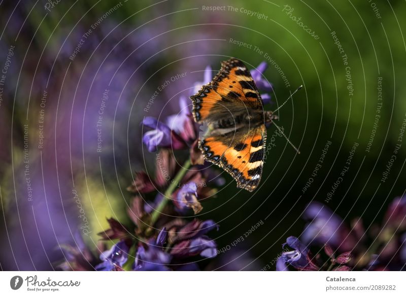
[[[71,59],[84,32],[117,4]],[[279,111],[279,125],[301,154],[277,137],[254,193],[238,190],[223,174],[226,185],[199,214],[219,223],[213,238],[220,249],[262,220],[264,224],[238,248],[247,251],[247,269],[259,270],[272,261],[286,237],[300,235],[306,205],[312,200],[326,203],[354,143],[358,146],[351,165],[327,206],[348,223],[361,216],[368,227],[380,220],[394,196],[404,193],[406,143],[398,141],[406,118],[403,1],[60,1],[49,11],[46,5],[0,4],[2,68],[10,46],[15,46],[0,105],[2,269],[50,269],[52,259],[60,255],[55,246],[69,241],[72,234],[66,229],[78,223],[73,188],[91,225],[86,238],[90,245],[106,228],[106,217],[128,221],[125,211],[131,194],[125,188],[131,172],[154,168],[155,155],[142,147],[143,117],[177,113],[179,93],[202,81],[207,65],[217,71],[230,56],[250,69],[266,56],[275,62],[264,74],[274,85],[269,110],[303,85]],[[218,6],[224,10],[204,9]],[[248,10],[263,17],[250,16]],[[239,47],[230,39],[252,46]],[[167,77],[184,72],[187,78],[171,83],[145,114],[156,88]],[[107,85],[105,142],[98,153],[94,118]],[[39,149],[38,114],[45,90],[46,140]],[[34,201],[27,200],[24,183],[24,124],[30,128]],[[268,141],[275,130],[269,127]],[[328,141],[321,168],[312,176]],[[382,182],[396,144],[401,144],[397,158]],[[303,193],[309,178],[313,182]],[[36,214],[44,220],[33,221]]]

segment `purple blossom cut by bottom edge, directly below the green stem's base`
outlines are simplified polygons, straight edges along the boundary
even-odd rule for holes
[[[134,271],[168,271],[166,267],[171,261],[171,255],[161,248],[149,245],[147,249],[140,245],[134,261]]]

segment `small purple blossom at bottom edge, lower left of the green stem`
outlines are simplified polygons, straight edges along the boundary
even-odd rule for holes
[[[129,247],[125,241],[115,244],[110,250],[100,254],[101,262],[95,267],[97,271],[115,271],[122,270],[124,263],[128,259]]]

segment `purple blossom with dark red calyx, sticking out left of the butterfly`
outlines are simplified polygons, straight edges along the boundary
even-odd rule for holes
[[[150,116],[145,117],[142,123],[153,128],[153,130],[147,131],[143,136],[143,142],[149,152],[158,150],[158,147],[173,149],[186,147],[184,141],[166,124]]]

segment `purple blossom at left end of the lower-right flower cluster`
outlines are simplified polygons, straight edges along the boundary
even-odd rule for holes
[[[288,237],[282,248],[288,245],[293,251],[283,252],[277,261],[277,271],[287,271],[287,264],[297,269],[306,268],[309,265],[309,249],[296,237]]]

